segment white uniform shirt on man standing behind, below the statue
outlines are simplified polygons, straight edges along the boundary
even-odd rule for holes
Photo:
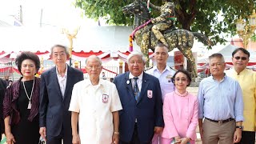
[[[151,74],[154,77],[158,78],[160,82],[160,87],[162,91],[162,101],[164,100],[166,94],[174,91],[174,83],[171,82],[171,79],[174,74],[175,70],[170,69],[169,66],[166,66],[166,69],[160,73],[157,66],[154,66],[152,69],[146,71],[147,74]]]

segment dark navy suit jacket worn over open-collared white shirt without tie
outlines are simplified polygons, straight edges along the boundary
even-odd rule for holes
[[[71,133],[70,99],[75,83],[83,80],[82,71],[67,66],[64,98],[58,84],[56,67],[42,73],[40,86],[39,126],[46,126],[46,136],[58,136],[62,131]]]

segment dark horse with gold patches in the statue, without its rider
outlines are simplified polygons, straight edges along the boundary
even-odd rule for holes
[[[127,6],[122,7],[124,14],[134,14],[134,28],[145,24],[150,20],[150,11],[147,9],[146,2],[141,0],[135,0],[133,3],[130,3]],[[149,62],[149,49],[154,51],[154,47],[158,44],[158,39],[151,32],[153,24],[150,22],[147,26],[138,30],[134,34],[134,38],[138,46],[140,46],[142,53],[146,56],[147,64]],[[145,34],[150,32],[148,43],[142,43],[142,39],[146,38]],[[189,30],[175,29],[171,28],[165,31],[162,31],[162,34],[166,38],[166,42],[169,45],[169,51],[178,48],[182,54],[187,58],[191,70],[191,75],[193,78],[198,76],[197,66],[192,54],[192,46],[194,43],[194,36],[203,42],[207,46],[213,46],[211,42],[204,34],[198,32],[190,32]],[[148,37],[147,37],[148,38]],[[144,41],[145,42],[145,41]]]

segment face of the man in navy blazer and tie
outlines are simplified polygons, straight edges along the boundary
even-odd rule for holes
[[[145,63],[142,61],[142,57],[134,55],[128,62],[128,69],[134,77],[138,77],[144,70]]]

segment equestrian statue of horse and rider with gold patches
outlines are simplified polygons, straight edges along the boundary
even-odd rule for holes
[[[134,31],[130,38],[135,38],[136,43],[140,46],[142,53],[146,56],[146,65],[149,64],[149,49],[154,51],[158,42],[165,44],[169,51],[178,48],[187,58],[193,78],[198,76],[195,59],[192,54],[194,37],[207,46],[213,46],[204,34],[190,32],[189,30],[176,29],[174,26],[174,4],[170,0],[165,0],[162,6],[154,6],[148,2],[135,0],[127,6],[122,7],[124,14],[134,14]],[[157,18],[151,18],[150,8],[160,11]]]

